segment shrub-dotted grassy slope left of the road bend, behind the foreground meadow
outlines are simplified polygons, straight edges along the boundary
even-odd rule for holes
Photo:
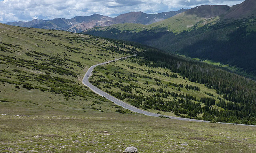
[[[53,108],[59,111],[84,112],[84,109],[90,109],[92,104],[102,101],[100,96],[81,84],[86,69],[96,63],[124,56],[103,51],[104,45],[114,44],[87,35],[11,27],[3,24],[0,25],[0,32],[0,45],[8,48],[1,51],[0,60],[0,100],[2,101],[0,112],[2,114],[45,114],[46,112],[52,112]],[[102,51],[100,51],[101,49]],[[15,57],[16,60],[11,62],[10,59],[6,60],[7,57],[12,57],[10,59]],[[20,63],[22,62],[20,59],[27,61]],[[53,71],[54,69],[41,69],[39,67],[40,64],[46,63],[50,65],[50,68],[57,67],[56,72]],[[34,65],[39,68],[34,67]],[[64,68],[64,73],[67,71],[73,72],[77,77],[60,75],[58,70],[61,70],[61,68]],[[62,84],[58,81],[45,82],[43,80],[38,82],[36,80],[38,75],[46,74],[50,74],[51,77],[65,78],[73,83]],[[12,81],[15,82],[13,84],[8,83]],[[33,88],[38,89],[22,88],[24,84],[28,83],[32,84]],[[67,95],[61,93],[62,91],[58,94],[50,92],[52,86],[56,83],[60,83],[60,88],[74,87],[72,90],[76,89],[78,92],[70,91]],[[15,88],[16,85],[19,88]],[[58,88],[58,86],[55,87]],[[41,91],[41,88],[46,91]],[[106,102],[104,111],[112,111],[110,104],[110,102]],[[97,105],[95,107],[100,107]]]

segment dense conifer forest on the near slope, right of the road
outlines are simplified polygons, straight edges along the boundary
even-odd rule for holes
[[[167,67],[171,71],[179,73],[183,78],[186,77],[192,82],[200,82],[208,88],[215,89],[217,94],[222,95],[222,98],[231,101],[231,103],[225,103],[221,100],[222,98],[219,98],[220,101],[216,105],[224,108],[226,111],[222,112],[223,114],[218,114],[218,111],[214,112],[211,108],[205,108],[208,111],[206,111],[205,117],[211,118],[216,116],[218,122],[236,119],[244,120],[245,122],[254,120],[255,122],[256,82],[254,80],[204,63],[188,62],[186,60],[177,62],[175,58],[165,54],[158,54],[156,56],[154,52],[147,52],[142,53],[142,56],[146,61],[154,61],[156,63],[148,64],[148,66]],[[208,106],[210,105],[208,104]],[[229,119],[225,119],[225,116]]]

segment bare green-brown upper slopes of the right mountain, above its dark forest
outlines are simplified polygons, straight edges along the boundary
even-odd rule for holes
[[[233,22],[234,20],[241,20],[243,18],[253,19],[256,17],[256,1],[254,0],[246,0],[241,4],[237,4],[234,6],[227,5],[202,5],[196,6],[195,8],[191,8],[184,12],[180,12],[175,16],[172,16],[166,20],[162,20],[159,22],[154,22],[150,25],[144,26],[145,24],[137,25],[134,24],[133,28],[130,26],[130,29],[125,29],[130,24],[119,24],[112,25],[109,27],[95,27],[92,29],[88,29],[86,31],[107,31],[106,29],[124,29],[134,31],[143,31],[143,30],[151,30],[151,29],[164,29],[172,32],[182,32],[182,31],[190,31],[196,27],[202,27],[206,24],[216,24],[219,22],[225,21],[225,23]],[[138,30],[140,28],[140,30]]]

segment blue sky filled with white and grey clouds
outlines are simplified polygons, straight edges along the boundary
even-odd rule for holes
[[[147,14],[177,11],[196,6],[235,5],[244,0],[0,0],[0,23],[33,19],[73,18],[142,11]]]

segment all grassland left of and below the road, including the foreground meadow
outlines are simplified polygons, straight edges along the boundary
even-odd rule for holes
[[[117,106],[92,93],[80,81],[91,65],[124,56],[100,51],[104,45],[116,43],[64,31],[3,24],[0,24],[0,42],[5,48],[0,52],[1,152],[118,153],[130,145],[138,147],[140,152],[254,152],[256,149],[255,128],[114,113],[119,109]],[[16,60],[11,63],[7,56],[15,56]],[[72,61],[60,64],[64,57]],[[27,61],[21,64],[22,59]],[[36,69],[40,63],[48,63],[49,68]],[[54,73],[55,66],[74,72],[77,77]],[[35,79],[46,73],[51,78],[74,82],[61,85],[58,79],[53,82]],[[34,89],[23,88],[26,83],[32,84]],[[66,96],[56,94],[50,90],[54,84],[73,91]],[[16,85],[19,88],[15,88]],[[245,137],[247,141],[243,141]]]

